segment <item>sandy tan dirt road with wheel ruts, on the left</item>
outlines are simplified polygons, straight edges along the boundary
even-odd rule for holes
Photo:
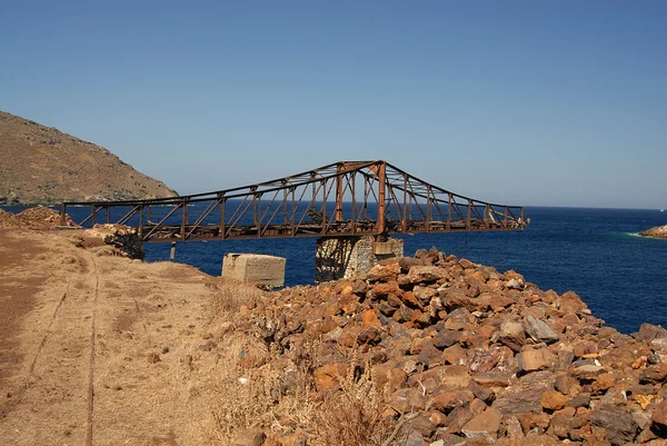
[[[0,444],[191,444],[216,279],[76,245],[0,230]]]

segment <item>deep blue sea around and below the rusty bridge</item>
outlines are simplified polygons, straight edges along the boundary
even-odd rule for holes
[[[77,211],[87,209],[68,209],[76,220]],[[667,327],[667,240],[637,236],[667,225],[667,212],[530,207],[526,214],[531,225],[524,231],[399,237],[409,256],[435,246],[499,271],[514,269],[545,290],[574,290],[595,316],[623,333],[637,331],[645,321]],[[179,242],[176,261],[218,276],[227,252],[269,254],[287,258],[287,286],[307,285],[315,281],[315,240]],[[168,260],[169,250],[170,244],[147,244],[147,260]]]

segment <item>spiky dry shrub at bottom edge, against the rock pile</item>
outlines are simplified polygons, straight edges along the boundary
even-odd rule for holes
[[[355,361],[341,381],[341,389],[325,399],[313,413],[316,446],[381,446],[391,435],[385,417],[386,392],[372,380],[370,367],[357,378]]]

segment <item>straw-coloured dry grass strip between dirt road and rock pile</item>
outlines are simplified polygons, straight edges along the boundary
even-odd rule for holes
[[[220,444],[230,444],[238,433],[252,427],[275,435],[299,433],[313,446],[381,446],[389,438],[394,423],[385,417],[386,392],[377,388],[370,367],[360,367],[354,351],[347,353],[341,388],[322,399],[312,375],[317,358],[310,354],[290,358],[289,353],[271,349],[236,329],[242,326],[241,308],[252,311],[267,298],[266,293],[231,281],[216,286],[212,309],[217,320],[235,327],[218,350],[221,357],[215,371],[209,371],[215,378],[206,398]]]

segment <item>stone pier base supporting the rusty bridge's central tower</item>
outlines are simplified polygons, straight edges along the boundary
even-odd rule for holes
[[[375,236],[321,237],[315,251],[315,281],[349,278],[366,272],[380,260],[402,257],[404,240],[376,241]]]

